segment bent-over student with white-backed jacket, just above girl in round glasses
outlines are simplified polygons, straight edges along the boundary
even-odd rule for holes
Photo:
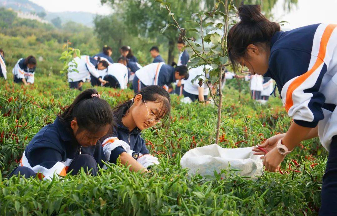
[[[134,93],[149,85],[159,85],[168,90],[166,86],[171,83],[187,79],[188,69],[186,65],[175,65],[175,62],[172,63],[172,66],[164,62],[151,63],[136,71],[132,81]]]

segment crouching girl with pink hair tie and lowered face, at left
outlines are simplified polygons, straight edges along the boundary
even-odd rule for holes
[[[78,174],[81,168],[97,174],[105,155],[99,139],[113,126],[110,105],[95,89],[80,93],[54,123],[42,128],[29,142],[19,166],[10,174],[52,179]]]

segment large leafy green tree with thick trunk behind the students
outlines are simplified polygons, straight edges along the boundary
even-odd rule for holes
[[[158,4],[155,1],[102,0],[101,2],[109,2],[114,11],[123,11],[121,17],[130,34],[158,38],[157,43],[166,43],[168,47],[167,62],[171,63],[174,60],[179,32],[177,29],[170,28],[161,36],[160,30],[171,22],[171,18],[164,10],[158,9]],[[172,11],[175,12],[180,22],[185,22],[190,19],[191,14],[200,10],[202,2],[202,0],[174,0]],[[193,26],[195,25],[191,23],[186,24],[186,27]]]

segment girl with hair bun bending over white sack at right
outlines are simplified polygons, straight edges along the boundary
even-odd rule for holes
[[[319,137],[329,152],[323,177],[320,215],[337,213],[337,25],[314,24],[281,31],[258,5],[242,5],[241,21],[228,32],[233,67],[276,81],[282,103],[294,119],[288,131],[255,148],[271,172],[301,141]],[[242,69],[241,69],[242,70]]]

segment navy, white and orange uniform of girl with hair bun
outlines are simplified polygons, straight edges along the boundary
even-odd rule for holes
[[[269,70],[282,103],[296,124],[314,128],[329,152],[321,192],[321,215],[337,213],[337,25],[315,24],[276,32]]]

